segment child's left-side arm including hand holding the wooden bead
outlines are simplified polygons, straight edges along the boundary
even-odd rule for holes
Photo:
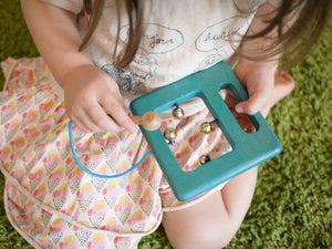
[[[53,76],[64,90],[69,117],[85,132],[135,129],[117,84],[93,65],[81,39],[75,14],[40,0],[21,0],[23,14]]]

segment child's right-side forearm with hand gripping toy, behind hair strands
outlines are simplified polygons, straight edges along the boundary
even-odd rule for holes
[[[274,73],[279,66],[283,48],[277,46],[278,27],[274,27],[264,35],[261,31],[268,28],[267,20],[271,20],[274,14],[277,14],[276,7],[269,2],[262,4],[241,43],[239,62],[235,73],[247,89],[249,100],[237,104],[236,111],[238,113],[253,115],[258,111],[266,110],[270,100],[273,100]],[[288,18],[288,21],[283,24],[289,27],[293,19]]]

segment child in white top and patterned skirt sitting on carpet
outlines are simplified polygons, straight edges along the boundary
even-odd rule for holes
[[[231,63],[245,34],[235,72],[250,97],[235,110],[267,115],[293,87],[292,79],[277,71],[283,42],[293,41],[283,29],[286,20],[290,31],[307,19],[321,28],[328,1],[282,1],[279,8],[274,1],[212,0],[144,1],[144,7],[138,1],[21,3],[34,42],[63,92],[46,80],[38,60],[35,84],[18,87],[12,79],[1,94],[1,169],[13,226],[35,248],[135,248],[160,222],[174,248],[226,246],[249,208],[257,168],[183,204],[153,157],[117,179],[83,173],[69,152],[68,122],[75,124],[76,151],[89,167],[100,174],[124,172],[147,151],[129,118],[128,103],[219,61]],[[313,38],[319,31],[312,29],[318,32]],[[31,61],[22,65],[30,69]],[[207,144],[195,131],[208,113],[197,101],[183,107],[185,122],[165,115],[162,128],[170,124],[188,137],[175,151],[187,166],[189,154],[199,156]],[[211,152],[230,149],[220,131],[209,135],[210,141]]]

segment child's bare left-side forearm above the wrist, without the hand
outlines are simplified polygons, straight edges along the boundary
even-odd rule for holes
[[[33,41],[60,85],[71,71],[93,64],[85,51],[79,52],[81,39],[73,13],[40,0],[21,0],[21,6]]]

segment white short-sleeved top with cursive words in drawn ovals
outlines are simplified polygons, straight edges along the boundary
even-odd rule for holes
[[[44,0],[77,14],[83,0]],[[118,84],[125,105],[133,98],[227,61],[239,45],[257,8],[267,0],[145,0],[145,32],[134,61],[114,66],[117,34],[115,0],[106,0],[100,24],[86,49],[94,63]],[[271,0],[278,4],[279,0]],[[127,41],[128,20],[121,9],[120,46]],[[79,29],[85,31],[85,20]]]

